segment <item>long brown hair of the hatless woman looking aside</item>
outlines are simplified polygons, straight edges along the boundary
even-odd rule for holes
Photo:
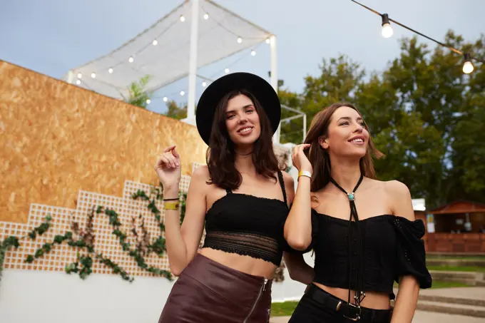
[[[328,155],[327,150],[320,146],[319,138],[327,138],[328,126],[330,125],[330,121],[332,121],[332,116],[335,111],[342,106],[348,106],[360,114],[359,110],[350,103],[333,103],[331,106],[323,109],[313,117],[312,123],[310,124],[310,130],[308,130],[307,137],[305,138],[305,143],[310,143],[311,145],[308,159],[313,167],[312,182],[310,185],[310,190],[312,192],[317,192],[318,190],[325,188],[325,185],[330,182],[330,170],[332,169],[332,165],[330,165],[330,156]],[[369,126],[365,121],[364,128],[369,131]],[[384,154],[375,147],[369,131],[369,147],[367,148],[364,157],[360,158],[359,163],[362,175],[367,178],[375,179],[376,173],[372,155],[374,155],[375,158],[384,156]]]

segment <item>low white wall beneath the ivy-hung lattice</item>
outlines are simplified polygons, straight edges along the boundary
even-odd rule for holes
[[[305,260],[313,265],[310,253]],[[92,274],[86,280],[65,272],[4,270],[0,323],[156,323],[173,282]],[[290,279],[273,284],[275,302],[297,300],[305,285]]]

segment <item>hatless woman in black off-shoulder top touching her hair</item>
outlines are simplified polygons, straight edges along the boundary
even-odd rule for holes
[[[294,149],[301,176],[285,237],[297,250],[315,250],[315,278],[291,323],[410,323],[419,288],[431,287],[409,189],[376,180],[372,155],[382,153],[349,103],[317,113]]]

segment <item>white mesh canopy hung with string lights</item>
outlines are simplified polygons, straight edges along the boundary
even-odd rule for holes
[[[193,8],[194,4],[197,8]],[[197,13],[195,20],[194,13]],[[193,22],[195,27],[191,26]],[[192,40],[190,36],[194,31],[197,36]],[[72,68],[68,81],[106,96],[121,98],[121,93],[125,95],[132,82],[150,75],[146,90],[156,91],[189,76],[191,49],[196,56],[196,65],[194,62],[192,68],[196,69],[254,48],[270,37],[269,31],[213,1],[187,0],[111,53]],[[195,73],[193,71],[194,80]]]

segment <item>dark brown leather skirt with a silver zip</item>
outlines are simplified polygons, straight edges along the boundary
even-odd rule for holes
[[[267,323],[271,283],[197,254],[173,285],[158,323]]]

